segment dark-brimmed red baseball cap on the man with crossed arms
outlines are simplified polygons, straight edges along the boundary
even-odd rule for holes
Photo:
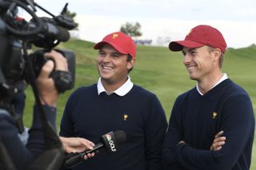
[[[183,46],[198,48],[203,45],[219,48],[223,53],[226,50],[226,42],[222,33],[214,27],[206,25],[194,27],[183,41],[170,42],[169,49],[171,51],[181,51]]]

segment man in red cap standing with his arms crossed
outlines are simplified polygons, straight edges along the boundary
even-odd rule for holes
[[[185,40],[170,42],[169,49],[182,51],[197,84],[174,103],[162,152],[164,169],[250,169],[254,111],[246,91],[222,73],[222,34],[196,26]]]

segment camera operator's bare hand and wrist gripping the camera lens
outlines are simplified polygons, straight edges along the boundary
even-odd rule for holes
[[[37,78],[38,90],[42,105],[50,105],[56,107],[58,100],[58,90],[54,85],[54,80],[50,78],[50,73],[54,70],[68,71],[66,58],[54,50],[45,53],[45,57],[50,59],[42,66],[42,70]]]

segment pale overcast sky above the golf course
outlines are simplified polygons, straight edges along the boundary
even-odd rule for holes
[[[66,2],[77,14],[78,38],[98,42],[126,22],[139,22],[141,39],[153,44],[184,39],[194,26],[220,30],[227,45],[242,48],[256,44],[255,0],[34,0],[57,15]],[[166,44],[162,44],[166,45]]]

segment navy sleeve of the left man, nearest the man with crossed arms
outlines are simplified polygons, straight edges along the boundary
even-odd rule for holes
[[[145,127],[145,156],[147,169],[162,169],[162,143],[166,134],[166,114],[158,98],[154,96],[150,105],[150,117]]]

